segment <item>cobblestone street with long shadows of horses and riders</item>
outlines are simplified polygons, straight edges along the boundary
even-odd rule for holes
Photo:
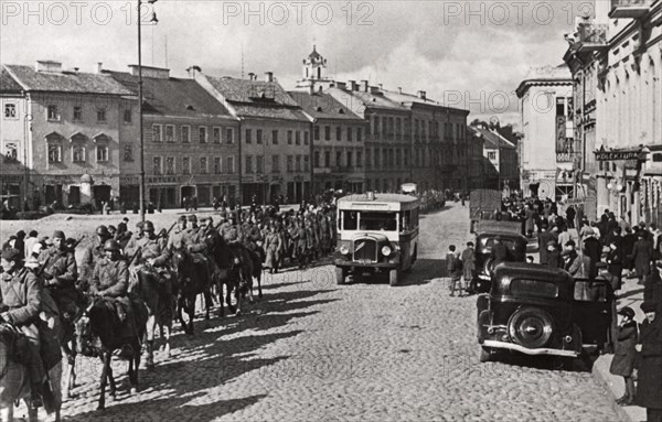
[[[100,369],[79,359],[72,421],[613,421],[588,371],[544,363],[479,364],[476,297],[449,297],[441,258],[468,239],[468,208],[421,220],[421,255],[404,285],[337,286],[333,267],[268,277],[241,317],[200,321],[157,355],[129,397],[120,382],[95,411]],[[204,332],[203,332],[204,329]],[[122,374],[125,364],[114,365]],[[94,379],[94,381],[93,381]]]

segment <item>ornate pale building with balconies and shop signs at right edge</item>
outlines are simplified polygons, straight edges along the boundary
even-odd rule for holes
[[[662,224],[661,20],[660,0],[596,2],[567,37],[589,218]]]

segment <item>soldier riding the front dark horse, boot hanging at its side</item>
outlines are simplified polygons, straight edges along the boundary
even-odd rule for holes
[[[121,248],[117,240],[106,240],[104,251],[105,257],[99,259],[94,268],[89,293],[111,302],[121,323],[121,337],[134,338],[137,335],[137,329],[128,296],[129,267],[127,261],[121,259]],[[132,354],[134,350],[128,344],[122,346],[120,356],[128,358]]]

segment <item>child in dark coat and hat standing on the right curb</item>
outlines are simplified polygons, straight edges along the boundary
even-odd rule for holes
[[[616,402],[620,405],[631,405],[634,403],[636,397],[632,371],[637,356],[637,322],[634,321],[634,310],[630,306],[624,306],[618,314],[622,317],[616,328],[613,359],[611,359],[609,372],[623,377],[626,382],[626,392]]]

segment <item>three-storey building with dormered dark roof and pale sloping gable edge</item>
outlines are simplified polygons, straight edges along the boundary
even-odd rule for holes
[[[244,203],[280,195],[301,202],[311,195],[310,121],[274,79],[212,77],[193,69],[195,80],[238,119],[239,186]]]

